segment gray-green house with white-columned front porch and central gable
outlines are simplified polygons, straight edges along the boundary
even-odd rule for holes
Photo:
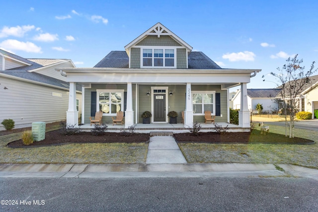
[[[208,41],[207,41],[208,42]],[[125,127],[142,123],[141,114],[150,111],[151,123],[167,123],[167,113],[176,111],[184,126],[204,122],[204,111],[216,122],[229,123],[229,88],[242,90],[239,126],[249,128],[246,84],[261,70],[222,69],[161,23],[157,23],[125,46],[112,51],[93,68],[56,69],[66,75],[71,90],[67,122],[77,124],[75,84],[81,83],[82,121],[96,111],[103,122],[111,121],[117,111],[125,112]]]

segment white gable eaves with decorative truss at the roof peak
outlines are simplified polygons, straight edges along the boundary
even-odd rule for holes
[[[135,40],[130,42],[128,45],[125,46],[125,49],[127,53],[129,52],[129,49],[139,43],[141,40],[146,38],[148,35],[156,35],[160,37],[160,35],[168,35],[170,36],[173,40],[175,40],[177,43],[179,43],[181,46],[185,47],[188,52],[192,50],[192,47],[184,42],[181,38],[176,36],[173,32],[171,32],[168,28],[163,26],[160,22],[156,23],[154,26],[150,27],[146,32],[141,34],[139,37],[137,37]]]

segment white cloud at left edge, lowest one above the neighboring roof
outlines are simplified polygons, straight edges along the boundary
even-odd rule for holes
[[[24,52],[42,53],[41,47],[31,42],[21,42],[18,40],[8,39],[0,43],[0,48],[8,50],[20,50]]]

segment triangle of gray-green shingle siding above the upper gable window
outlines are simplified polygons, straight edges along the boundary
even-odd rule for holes
[[[168,35],[161,35],[159,38],[156,35],[149,35],[144,40],[140,41],[136,46],[181,46]]]

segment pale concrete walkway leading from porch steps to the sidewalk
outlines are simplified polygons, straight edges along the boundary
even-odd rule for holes
[[[154,136],[150,138],[146,163],[171,164],[187,161],[172,136]]]

